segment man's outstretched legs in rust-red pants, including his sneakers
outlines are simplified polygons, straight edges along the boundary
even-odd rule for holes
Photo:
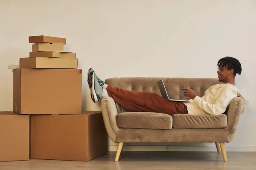
[[[159,112],[169,115],[187,114],[187,107],[182,102],[172,102],[149,92],[127,91],[106,85],[96,76],[93,69],[87,73],[87,82],[93,102],[98,102],[105,96],[111,96],[116,103],[133,111]]]

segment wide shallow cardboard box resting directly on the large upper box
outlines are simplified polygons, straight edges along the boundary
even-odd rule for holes
[[[77,68],[77,58],[20,58],[20,68]]]

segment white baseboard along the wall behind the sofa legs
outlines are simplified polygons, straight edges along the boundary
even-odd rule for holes
[[[116,151],[116,145],[108,146]],[[123,146],[122,151],[179,151],[179,152],[216,152],[215,146]],[[256,146],[226,146],[227,152],[256,152]]]

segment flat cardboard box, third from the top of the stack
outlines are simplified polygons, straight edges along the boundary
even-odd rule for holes
[[[76,53],[64,52],[64,51],[30,52],[29,57],[76,58]]]

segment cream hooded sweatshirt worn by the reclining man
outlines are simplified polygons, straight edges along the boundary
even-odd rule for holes
[[[204,96],[196,96],[195,99],[190,99],[189,102],[183,102],[189,114],[192,115],[219,115],[226,111],[228,105],[234,97],[241,97],[245,108],[248,105],[248,100],[239,93],[235,85],[229,83],[221,83],[212,85],[205,91]],[[243,108],[243,110],[244,110]]]

